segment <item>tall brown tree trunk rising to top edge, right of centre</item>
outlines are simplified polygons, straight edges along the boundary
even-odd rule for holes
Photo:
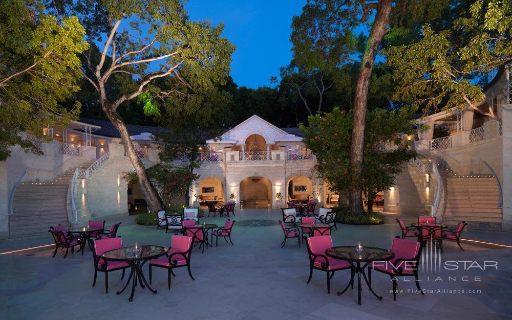
[[[391,0],[380,0],[373,22],[370,36],[366,43],[365,54],[362,56],[361,68],[357,77],[355,98],[354,98],[354,121],[352,124],[352,145],[350,164],[353,168],[354,180],[349,187],[350,214],[358,215],[363,212],[362,208],[362,151],[365,140],[366,108],[368,100],[368,87],[372,75],[375,55],[386,28],[391,11]]]

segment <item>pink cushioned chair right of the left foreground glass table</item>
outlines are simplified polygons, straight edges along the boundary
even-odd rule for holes
[[[170,275],[176,277],[173,272],[174,268],[186,266],[188,269],[188,276],[192,280],[192,272],[190,272],[190,255],[192,253],[192,238],[188,236],[174,235],[170,241],[169,252],[165,257],[152,259],[150,261],[150,284],[153,278],[152,267],[166,268],[167,269],[167,286],[170,290]]]

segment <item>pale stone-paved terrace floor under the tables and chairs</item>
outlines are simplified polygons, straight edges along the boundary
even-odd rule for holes
[[[62,259],[53,249],[36,253],[20,252],[0,256],[0,318],[1,319],[502,319],[512,318],[512,249],[463,244],[462,252],[453,242],[444,243],[443,261],[497,261],[498,270],[442,270],[423,272],[419,278],[423,289],[481,290],[480,293],[398,293],[393,302],[391,281],[386,275],[372,272],[373,289],[383,296],[377,300],[362,286],[362,305],[357,305],[357,289],[341,296],[336,291],[349,281],[350,271],[337,271],[331,280],[331,294],[327,294],[325,273],[313,271],[313,279],[306,284],[309,261],[305,246],[283,239],[278,210],[245,209],[236,211],[233,228],[234,246],[219,239],[219,247],[209,248],[204,254],[196,248],[191,256],[191,280],[186,269],[175,270],[171,289],[167,290],[164,269],[153,271],[153,288],[136,288],[133,302],[128,302],[129,289],[120,295],[115,291],[124,285],[120,271],[109,275],[109,294],[105,294],[104,278],[98,274],[93,288],[93,259],[87,248],[84,256],[74,254]],[[338,224],[333,230],[334,245],[353,245],[363,241],[368,246],[389,248],[399,229],[394,222],[401,217],[414,222],[415,217],[387,215],[386,224],[353,226]],[[223,224],[225,218],[206,218],[207,222]],[[264,220],[264,221],[258,221]],[[270,221],[265,221],[270,220]],[[135,241],[141,244],[168,246],[172,233],[155,230],[154,226],[130,224],[123,221],[118,235],[125,245]],[[107,221],[106,225],[110,225]],[[469,233],[468,233],[469,234]],[[476,234],[478,235],[478,233]],[[489,239],[507,240],[509,234],[484,233]],[[494,238],[493,238],[494,237]],[[482,239],[483,240],[483,239]],[[6,248],[51,243],[48,238],[0,243]],[[145,267],[147,278],[147,267]],[[467,278],[462,278],[467,277]],[[481,277],[475,281],[475,277]],[[478,279],[478,278],[477,278]],[[398,289],[415,289],[414,282],[398,279]],[[406,279],[409,280],[409,279]]]

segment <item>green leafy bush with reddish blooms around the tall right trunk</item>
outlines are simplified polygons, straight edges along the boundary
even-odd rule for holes
[[[410,119],[414,109],[402,107],[396,111],[374,109],[367,112],[362,178],[358,180],[350,165],[352,140],[352,110],[335,108],[326,115],[310,116],[308,126],[301,125],[306,146],[315,154],[318,177],[328,181],[330,189],[345,194],[349,186],[376,194],[395,185],[402,164],[416,156],[409,149],[410,141],[401,133],[413,134]],[[387,152],[382,150],[386,142]]]

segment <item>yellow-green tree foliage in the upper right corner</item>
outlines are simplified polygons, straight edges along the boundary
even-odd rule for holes
[[[445,29],[424,25],[418,41],[389,48],[388,63],[401,87],[396,99],[449,109],[475,108],[486,98],[479,80],[512,61],[512,3],[477,0],[464,9]],[[492,111],[485,113],[497,118]]]

